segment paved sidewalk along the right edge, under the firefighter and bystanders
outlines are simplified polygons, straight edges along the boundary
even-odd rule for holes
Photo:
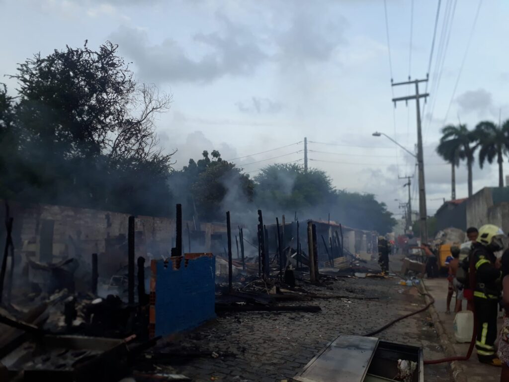
[[[435,299],[435,309],[438,313],[440,321],[446,331],[447,337],[451,345],[453,345],[455,352],[458,356],[464,356],[467,351],[468,343],[457,343],[454,338],[454,317],[455,314],[445,314],[446,300],[447,300],[447,279],[425,279],[423,280],[426,289]],[[454,310],[455,299],[451,301],[451,309]],[[466,302],[463,303],[465,309]],[[502,319],[498,320],[498,329],[502,325]],[[499,382],[500,381],[500,368],[484,365],[477,361],[475,349],[468,361],[458,362],[460,370],[462,369],[469,382]]]

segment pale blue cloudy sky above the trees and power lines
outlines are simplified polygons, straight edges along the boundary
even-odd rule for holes
[[[384,0],[0,0],[0,75],[37,52],[109,40],[137,80],[173,95],[157,130],[165,150],[177,149],[176,169],[216,149],[254,176],[271,163],[302,164],[306,137],[309,167],[399,214],[408,198],[399,177],[414,175],[418,206],[415,160],[372,133],[414,152],[415,101],[394,108],[391,98],[415,87],[390,80],[429,72],[419,92],[430,93],[421,111],[434,214],[450,199],[450,166],[435,153],[440,128],[509,119],[509,3],[440,3],[430,65],[438,0],[386,0],[386,14]],[[12,79],[0,81],[16,94]],[[476,165],[473,177],[474,192],[498,184],[495,164]],[[457,182],[457,197],[465,197],[464,164]]]

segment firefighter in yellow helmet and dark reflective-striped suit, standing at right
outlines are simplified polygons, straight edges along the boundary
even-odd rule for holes
[[[495,349],[498,301],[501,294],[501,271],[495,266],[495,252],[502,250],[500,228],[487,224],[479,228],[469,258],[475,269],[474,307],[477,318],[475,348],[479,362],[501,366]]]

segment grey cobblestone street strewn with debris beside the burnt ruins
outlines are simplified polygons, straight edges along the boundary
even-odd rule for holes
[[[294,376],[327,343],[338,335],[363,335],[388,321],[424,306],[412,287],[390,279],[338,278],[327,287],[304,285],[320,293],[379,297],[375,300],[316,299],[320,313],[242,312],[221,315],[215,322],[189,333],[173,346],[160,350],[210,350],[218,358],[194,358],[172,368],[196,381],[279,381]],[[306,303],[308,304],[308,303]],[[428,312],[400,321],[378,335],[392,342],[417,344],[425,359],[442,358],[443,352]],[[428,382],[449,381],[448,364],[425,367]]]

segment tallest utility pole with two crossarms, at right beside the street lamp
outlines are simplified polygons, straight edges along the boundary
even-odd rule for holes
[[[399,86],[399,85],[409,85],[409,84],[415,84],[415,94],[406,96],[406,97],[399,97],[399,98],[392,98],[392,102],[394,102],[394,107],[396,107],[396,102],[398,101],[405,101],[408,104],[409,99],[415,99],[415,105],[416,105],[416,111],[417,111],[417,167],[419,170],[419,220],[420,220],[420,242],[421,243],[427,243],[428,242],[428,212],[426,210],[426,188],[425,188],[425,181],[424,181],[424,158],[422,154],[422,131],[421,131],[421,125],[420,125],[420,98],[425,98],[429,96],[428,93],[426,94],[419,94],[419,83],[421,82],[427,82],[428,76],[426,76],[426,79],[415,79],[410,80],[410,77],[408,78],[408,81],[406,82],[400,82],[396,84],[392,84],[392,86]]]

